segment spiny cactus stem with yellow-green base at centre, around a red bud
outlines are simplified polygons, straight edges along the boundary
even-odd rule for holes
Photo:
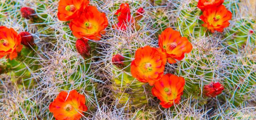
[[[143,38],[146,38],[146,35],[144,35],[146,31],[140,33],[139,36],[136,35],[136,32],[131,31],[130,36],[124,35],[114,40],[110,39],[109,43],[112,46],[103,52],[108,56],[105,58],[107,61],[104,71],[111,74],[112,98],[114,98],[114,102],[117,103],[119,108],[124,107],[131,112],[134,112],[137,108],[148,108],[152,105],[150,103],[151,87],[146,83],[139,82],[130,74],[130,64],[134,53],[136,49],[144,45]],[[112,57],[116,54],[124,57],[123,67],[112,63]]]

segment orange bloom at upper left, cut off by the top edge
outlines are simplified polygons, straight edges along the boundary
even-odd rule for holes
[[[59,20],[68,21],[80,16],[89,2],[89,0],[60,0],[58,6]]]

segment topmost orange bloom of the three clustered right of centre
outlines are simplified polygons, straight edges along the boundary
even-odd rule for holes
[[[166,28],[158,38],[160,51],[167,54],[167,60],[170,64],[176,63],[176,60],[182,60],[185,53],[192,50],[192,44],[188,38],[181,37],[180,33],[172,28]]]

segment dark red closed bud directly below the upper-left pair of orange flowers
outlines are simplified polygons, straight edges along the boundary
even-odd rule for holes
[[[88,44],[88,40],[77,39],[76,40],[76,50],[84,58],[89,57],[91,48]]]

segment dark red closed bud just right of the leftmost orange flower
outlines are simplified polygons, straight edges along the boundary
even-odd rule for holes
[[[21,44],[30,48],[30,46],[34,46],[34,37],[29,32],[20,32],[19,35],[21,36]]]

